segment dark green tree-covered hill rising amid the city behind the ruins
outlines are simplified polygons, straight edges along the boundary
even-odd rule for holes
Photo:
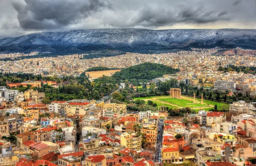
[[[178,71],[179,69],[174,69],[166,65],[146,62],[116,72],[113,77],[120,80],[150,80],[163,76],[164,74],[177,73]]]

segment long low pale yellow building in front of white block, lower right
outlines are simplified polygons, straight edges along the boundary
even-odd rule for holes
[[[209,138],[213,141],[217,141],[219,143],[228,143],[230,144],[231,146],[232,145],[235,145],[237,140],[235,138],[235,135],[231,135],[231,134],[225,134],[225,133],[215,133],[215,132],[212,132],[209,134]]]

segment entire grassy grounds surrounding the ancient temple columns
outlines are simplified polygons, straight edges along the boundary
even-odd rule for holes
[[[218,110],[221,110],[223,106],[225,106],[226,109],[229,108],[229,104],[225,104],[225,103],[219,103],[216,101],[210,101],[210,100],[203,100],[203,105],[201,105],[200,103],[198,104],[188,104],[188,103],[193,103],[194,99],[192,97],[189,96],[181,96],[181,99],[177,99],[177,98],[169,98],[169,96],[148,96],[148,97],[137,97],[134,98],[134,100],[137,99],[141,99],[141,100],[151,100],[154,103],[157,104],[157,108],[158,106],[166,106],[169,108],[183,108],[183,107],[190,107],[193,110],[199,111],[199,110],[210,110],[213,109],[215,104],[217,104]],[[197,102],[201,102],[200,98],[195,98],[195,101]],[[200,107],[203,106],[203,107]],[[193,108],[194,107],[194,108]],[[195,108],[196,107],[196,108]],[[221,108],[220,108],[221,107]]]

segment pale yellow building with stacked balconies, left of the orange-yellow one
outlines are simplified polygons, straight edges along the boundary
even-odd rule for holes
[[[141,150],[142,139],[141,139],[141,135],[139,134],[135,134],[135,133],[128,134],[127,132],[123,132],[120,135],[120,140],[121,140],[121,146],[125,146],[125,148],[129,148],[130,150],[134,150],[134,151]]]

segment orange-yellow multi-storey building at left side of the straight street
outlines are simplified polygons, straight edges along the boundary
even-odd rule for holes
[[[151,143],[156,143],[157,140],[157,127],[153,124],[144,124],[142,127],[144,139]]]

